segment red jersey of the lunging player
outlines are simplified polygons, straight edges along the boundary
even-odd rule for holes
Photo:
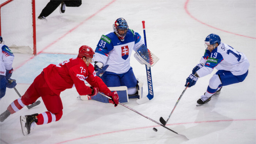
[[[75,84],[79,95],[91,94],[91,88],[84,83],[86,80],[91,86],[98,87],[104,94],[111,92],[106,84],[96,76],[92,64],[87,67],[81,58],[70,58],[60,64],[50,64],[44,68],[45,81],[49,88],[57,95]]]

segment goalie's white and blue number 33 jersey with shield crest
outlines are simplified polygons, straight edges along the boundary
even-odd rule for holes
[[[136,50],[143,43],[141,36],[131,29],[127,31],[124,41],[120,41],[114,31],[105,33],[98,42],[93,62],[109,65],[108,72],[125,73],[130,68],[132,49]]]

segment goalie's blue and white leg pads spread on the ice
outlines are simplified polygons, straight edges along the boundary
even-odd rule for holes
[[[86,84],[86,86],[90,87],[90,84]],[[128,95],[128,89],[126,86],[120,86],[120,87],[108,87],[110,91],[117,91],[117,94],[119,96],[119,102],[120,103],[127,103],[129,102],[129,99],[133,98],[142,98],[142,87],[143,87],[143,81],[140,79],[137,79],[137,92],[134,95]],[[109,103],[109,99],[105,96],[102,96],[101,94],[97,94],[94,96],[88,96],[88,95],[80,95],[80,99],[83,101],[86,100],[95,100],[98,102],[103,103]]]

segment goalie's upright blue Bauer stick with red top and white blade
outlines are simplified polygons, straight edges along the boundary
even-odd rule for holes
[[[145,21],[144,20],[142,21],[142,26],[143,26],[143,33],[144,33],[144,43],[147,46]],[[146,71],[147,71],[148,95],[147,95],[147,97],[142,97],[141,99],[138,99],[136,101],[138,104],[148,102],[148,101],[150,101],[151,99],[154,98],[153,83],[152,83],[152,77],[151,77],[151,68],[148,65],[146,65]]]

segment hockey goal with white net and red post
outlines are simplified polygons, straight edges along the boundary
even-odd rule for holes
[[[0,35],[12,52],[36,55],[35,0],[1,2]]]

